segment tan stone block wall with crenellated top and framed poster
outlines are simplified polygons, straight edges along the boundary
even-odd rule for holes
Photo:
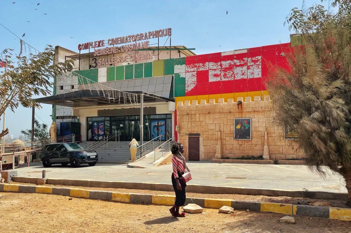
[[[274,124],[272,102],[269,96],[233,99],[179,101],[177,103],[178,141],[184,145],[184,156],[188,159],[188,134],[200,134],[200,160],[212,160],[217,151],[218,137],[221,141],[221,158],[263,155],[265,132],[269,159],[285,160],[303,158],[302,149],[296,140],[284,139],[284,129]],[[234,139],[234,119],[251,118],[251,140]]]

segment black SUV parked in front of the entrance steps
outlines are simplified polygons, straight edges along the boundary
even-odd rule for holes
[[[39,151],[39,160],[44,167],[51,167],[52,164],[61,164],[72,167],[79,167],[80,164],[94,166],[98,161],[96,151],[89,151],[77,143],[52,143],[43,146]]]

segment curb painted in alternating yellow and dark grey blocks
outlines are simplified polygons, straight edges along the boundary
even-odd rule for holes
[[[56,194],[68,197],[100,199],[108,201],[117,201],[133,204],[155,204],[155,205],[173,205],[175,196],[170,195],[152,195],[138,193],[120,193],[110,191],[86,190],[77,188],[60,188],[37,185],[17,185],[17,184],[0,184],[0,192],[23,192],[23,193],[43,193]],[[350,208],[321,207],[307,205],[281,204],[272,202],[258,201],[237,201],[231,199],[211,199],[211,198],[186,198],[185,205],[189,203],[197,204],[203,208],[221,208],[222,206],[231,206],[234,209],[257,212],[272,212],[287,215],[299,215],[308,217],[322,217],[330,219],[339,219],[351,221]]]

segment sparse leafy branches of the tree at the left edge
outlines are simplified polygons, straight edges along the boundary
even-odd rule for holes
[[[33,96],[51,94],[52,79],[71,71],[74,60],[54,62],[55,50],[48,45],[44,52],[22,55],[24,41],[20,41],[21,49],[13,58],[13,49],[4,49],[0,53],[6,61],[5,71],[0,72],[0,115],[9,108],[11,111],[22,105],[24,107],[40,107]],[[8,129],[0,133],[0,137],[8,134]]]

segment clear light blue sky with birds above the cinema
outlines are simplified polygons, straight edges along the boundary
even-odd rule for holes
[[[294,32],[283,22],[290,9],[300,8],[302,2],[1,0],[0,23],[19,37],[26,33],[23,39],[40,51],[46,45],[60,45],[76,52],[82,42],[171,27],[172,45],[196,48],[196,54],[204,54],[289,42]],[[307,7],[320,3],[305,2]],[[165,40],[160,39],[160,44]],[[18,52],[19,39],[0,26],[0,50],[4,48]],[[51,105],[43,104],[36,114],[39,122],[51,125]],[[17,137],[21,129],[31,128],[31,116],[28,108],[19,107],[15,113],[8,110],[5,123],[10,134]]]

